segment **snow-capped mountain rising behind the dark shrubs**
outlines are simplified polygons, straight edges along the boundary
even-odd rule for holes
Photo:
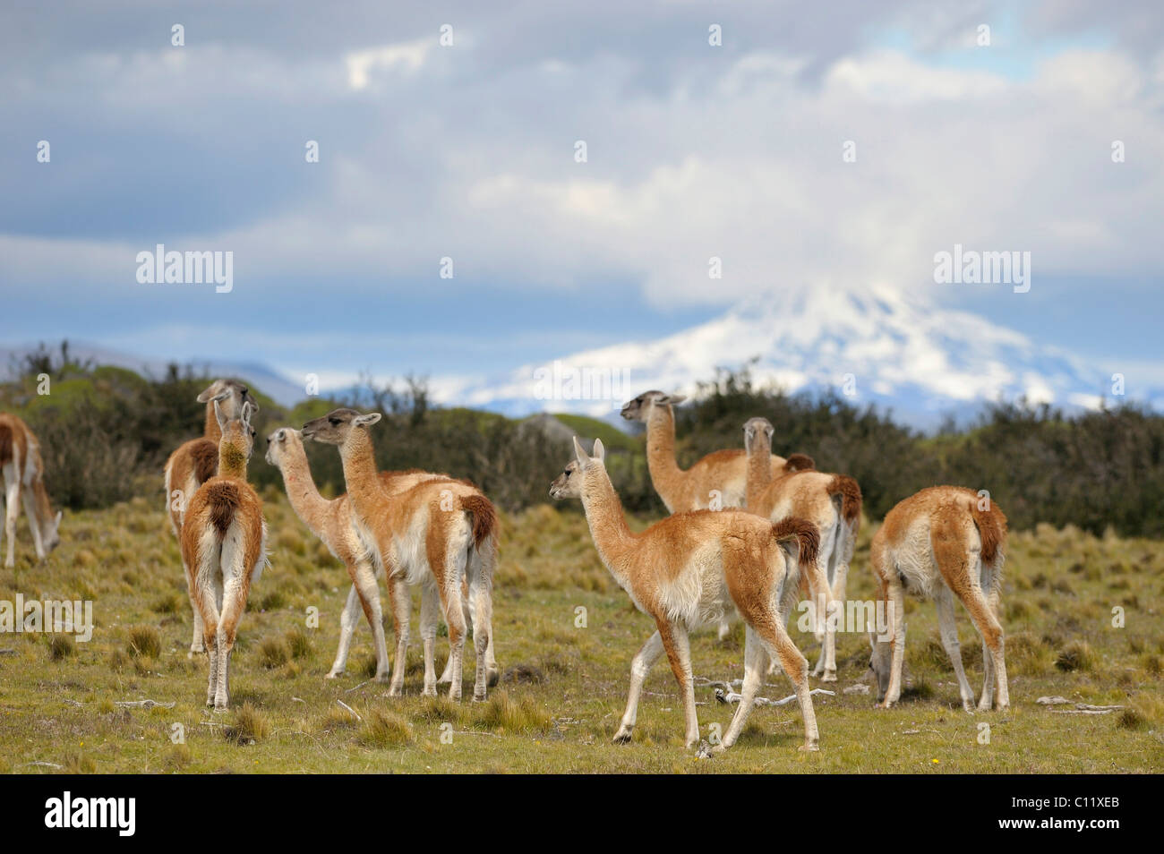
[[[788,392],[832,387],[856,405],[892,407],[899,419],[923,428],[946,414],[977,412],[984,401],[1025,397],[1071,411],[1095,407],[1105,396],[1121,399],[1113,397],[1112,371],[1103,365],[892,289],[757,299],[656,341],[563,355],[558,364],[524,365],[501,382],[466,383],[446,394],[510,414],[547,410],[609,418],[641,391],[690,393],[715,366],[739,368],[753,358],[752,377],[760,384]],[[1164,391],[1136,399],[1161,408]]]

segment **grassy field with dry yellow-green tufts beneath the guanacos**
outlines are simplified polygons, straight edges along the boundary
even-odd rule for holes
[[[204,706],[205,657],[186,657],[190,607],[161,496],[70,515],[64,543],[44,564],[31,560],[21,521],[16,569],[0,569],[0,600],[17,592],[91,599],[95,629],[87,643],[0,634],[0,771],[1164,770],[1164,547],[1156,541],[1049,527],[1012,535],[1003,626],[1013,707],[1005,714],[961,711],[934,605],[924,603],[909,609],[899,707],[876,710],[872,696],[843,692],[868,682],[868,645],[864,635],[842,634],[840,682],[824,685],[837,695],[814,697],[819,753],[796,750],[802,725],[790,704],[757,709],[736,747],[700,760],[683,749],[682,704],[665,661],[647,682],[633,742],[610,742],[631,657],[653,627],[598,562],[581,514],[535,507],[504,518],[494,624],[504,675],[488,703],[455,705],[419,696],[416,610],[407,696],[390,699],[384,685],[368,681],[367,626],[357,631],[348,675],[324,678],[347,575],[278,492],[268,490],[264,499],[271,565],[251,590],[233,660],[233,709],[225,714]],[[850,598],[872,593],[872,527],[861,534]],[[307,626],[312,606],[318,629]],[[585,627],[575,625],[580,606]],[[1123,609],[1122,628],[1113,627],[1115,607]],[[958,613],[977,692],[981,647]],[[793,632],[814,662],[817,645]],[[438,667],[447,654],[441,643]],[[723,642],[714,631],[700,633],[693,657],[700,677],[738,678],[743,628]],[[790,693],[782,675],[768,682],[764,696]],[[1058,713],[1073,706],[1035,703],[1045,695],[1124,709]],[[118,705],[141,699],[173,705]],[[718,705],[710,688],[697,689],[696,699],[703,732],[712,723],[726,730],[732,709]],[[981,723],[989,724],[988,743],[981,743]]]

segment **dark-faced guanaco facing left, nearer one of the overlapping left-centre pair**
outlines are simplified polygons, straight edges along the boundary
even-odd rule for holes
[[[487,696],[488,648],[492,638],[492,565],[497,549],[497,511],[475,486],[460,481],[418,483],[389,494],[376,471],[368,428],[381,414],[340,408],[303,426],[304,439],[339,447],[343,479],[368,553],[381,562],[389,583],[419,584],[420,636],[425,654],[425,695],[436,693],[433,664],[439,613],[443,611],[449,640],[450,699],[461,698],[466,615],[462,582],[468,577],[474,602],[473,640],[476,676],[473,699]],[[407,602],[406,596],[400,600]],[[407,632],[407,618],[397,619]],[[399,636],[399,635],[398,635]],[[390,695],[404,686],[404,660],[397,655]]]

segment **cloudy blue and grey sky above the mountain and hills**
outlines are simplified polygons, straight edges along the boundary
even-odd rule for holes
[[[1164,7],[805,6],[9,0],[0,344],[480,380],[889,287],[1159,365]],[[954,244],[1030,290],[936,284]]]

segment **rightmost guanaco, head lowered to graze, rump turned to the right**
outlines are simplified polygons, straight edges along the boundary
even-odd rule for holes
[[[973,711],[974,695],[961,666],[954,597],[966,606],[982,638],[986,675],[979,711],[1010,705],[998,617],[1006,546],[1006,515],[987,496],[961,486],[924,489],[889,511],[870,549],[878,599],[887,604],[890,617],[888,640],[870,632],[878,705],[888,709],[901,698],[907,592],[922,599],[932,597],[937,605],[942,646],[958,677],[963,707]]]

